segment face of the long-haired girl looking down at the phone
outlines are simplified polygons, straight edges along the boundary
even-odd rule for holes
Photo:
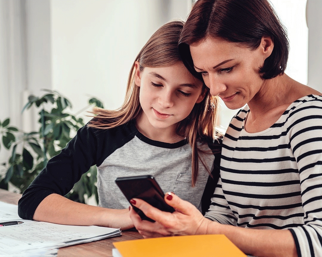
[[[175,129],[195,103],[203,100],[202,82],[182,62],[166,67],[145,67],[136,62],[135,84],[140,87],[143,120],[155,129]]]

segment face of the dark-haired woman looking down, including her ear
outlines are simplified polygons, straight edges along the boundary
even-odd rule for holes
[[[191,45],[190,52],[194,68],[202,73],[210,93],[218,95],[229,109],[239,109],[264,88],[259,69],[269,56],[265,43],[262,40],[260,47],[252,50],[240,43],[207,37]]]

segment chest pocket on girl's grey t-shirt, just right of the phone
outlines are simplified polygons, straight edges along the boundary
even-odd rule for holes
[[[195,187],[191,186],[191,175],[177,174],[173,192],[181,199],[191,202],[201,211],[201,198],[208,180],[208,174],[198,175]]]

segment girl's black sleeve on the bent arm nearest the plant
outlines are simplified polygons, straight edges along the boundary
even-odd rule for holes
[[[81,175],[97,163],[95,131],[87,126],[82,127],[61,153],[48,161],[19,200],[19,217],[33,219],[36,208],[45,197],[52,193],[66,195]]]

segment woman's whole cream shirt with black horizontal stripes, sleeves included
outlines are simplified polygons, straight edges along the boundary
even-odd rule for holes
[[[223,139],[218,187],[205,217],[289,229],[298,256],[322,256],[322,96],[293,102],[269,129],[248,133],[246,106]]]

